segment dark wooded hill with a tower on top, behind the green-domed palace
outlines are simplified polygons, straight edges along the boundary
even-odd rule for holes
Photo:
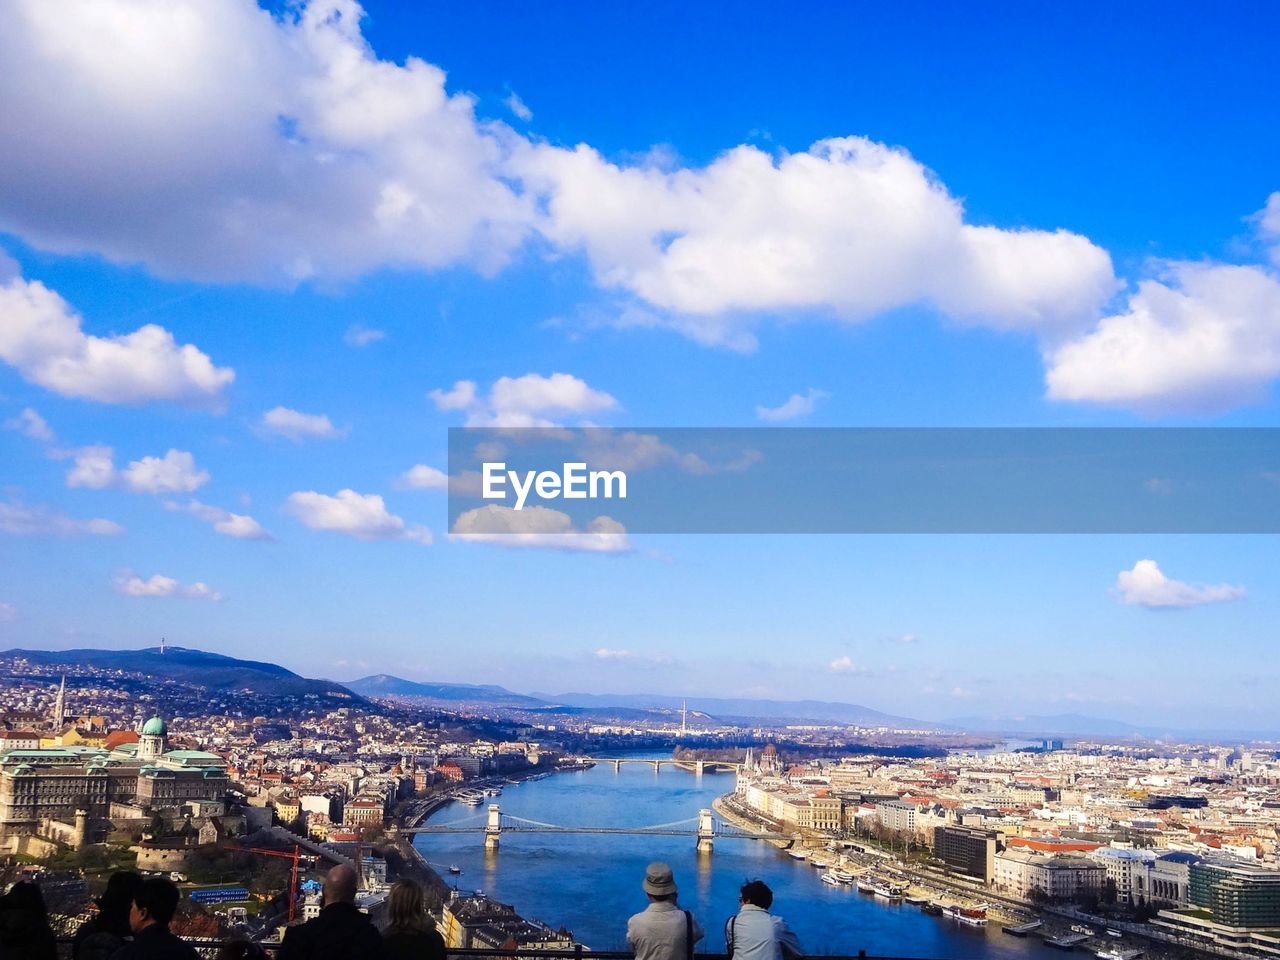
[[[207,690],[250,691],[269,696],[337,696],[361,698],[332,680],[307,680],[275,663],[241,660],[218,653],[191,650],[184,646],[159,646],[142,650],[4,650],[0,657],[22,657],[42,666],[65,664],[97,669],[119,669],[164,677]]]

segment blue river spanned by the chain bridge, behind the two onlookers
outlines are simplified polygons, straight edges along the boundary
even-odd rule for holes
[[[493,797],[503,814],[558,826],[648,827],[695,818],[712,800],[733,788],[733,774],[691,772],[648,764],[596,764],[557,773]],[[483,824],[485,806],[449,804],[431,824]],[[919,908],[892,905],[833,887],[820,870],[792,860],[759,840],[717,838],[716,851],[699,856],[692,837],[622,835],[504,833],[502,847],[484,851],[480,833],[419,835],[416,846],[436,870],[466,893],[477,890],[511,904],[520,914],[552,927],[564,925],[595,950],[626,950],[627,916],[644,909],[640,890],[645,864],[666,860],[676,873],[680,905],[707,928],[701,948],[723,951],[726,918],[737,909],[737,888],[750,878],[773,888],[773,913],[787,919],[812,954],[948,957],[968,960],[1061,960],[1062,954],[1034,938],[1019,940],[929,916]],[[448,865],[462,873],[449,876]]]

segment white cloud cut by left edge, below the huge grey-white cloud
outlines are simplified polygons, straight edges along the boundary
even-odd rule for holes
[[[0,90],[4,86],[0,82]],[[101,403],[216,406],[236,379],[229,367],[214,366],[205,353],[179,346],[155,324],[128,334],[86,334],[67,301],[37,280],[20,278],[0,284],[0,360],[45,389]]]

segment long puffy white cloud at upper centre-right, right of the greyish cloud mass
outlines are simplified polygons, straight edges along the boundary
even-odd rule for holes
[[[708,342],[730,340],[726,315],[861,320],[918,302],[997,329],[1075,329],[1116,289],[1084,237],[965,224],[906,151],[860,137],[777,157],[740,146],[701,169],[521,145],[513,166],[544,198],[539,229],[556,246]],[[703,317],[699,335],[689,325]]]

